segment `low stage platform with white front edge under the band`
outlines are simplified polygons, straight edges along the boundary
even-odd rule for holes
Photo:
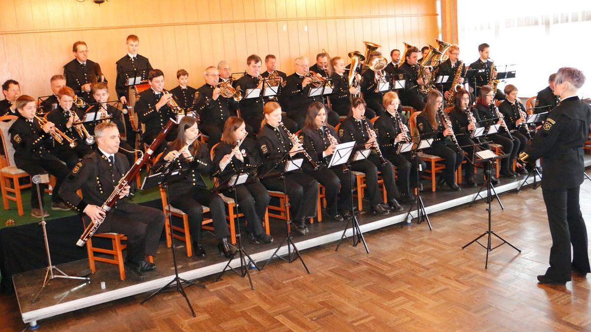
[[[587,158],[585,166],[591,165],[591,158]],[[500,195],[509,191],[515,191],[518,186],[525,180],[525,175],[516,179],[501,179],[501,182],[496,186],[496,192]],[[527,180],[527,184],[532,183],[533,178]],[[431,224],[437,227],[437,215],[434,214],[439,211],[444,211],[452,207],[460,206],[462,204],[470,203],[475,196],[479,187],[476,188],[462,188],[459,193],[449,191],[438,191],[431,193],[426,190],[421,194],[426,205],[427,213],[430,214]],[[531,187],[525,187],[524,190],[531,190]],[[486,190],[481,193],[482,197],[486,197]],[[476,204],[483,204],[482,197],[478,197],[479,201]],[[501,196],[502,200],[502,196]],[[409,209],[410,206],[404,206]],[[493,201],[493,209],[500,209],[498,203]],[[411,214],[415,215],[413,210]],[[372,216],[368,213],[361,213],[358,217],[363,232],[371,232],[375,229],[391,226],[394,224],[401,224],[403,227],[424,227],[425,232],[428,232],[427,223],[408,225],[407,211],[404,213],[389,214],[388,216]],[[327,245],[332,243],[330,248],[334,249],[336,241],[340,239],[345,224],[335,222],[321,222],[314,223],[309,226],[310,233],[306,236],[301,236],[293,232],[294,242],[297,248],[302,252],[304,261],[306,260],[305,249],[313,248],[315,246]],[[243,228],[242,228],[243,229]],[[348,229],[346,234],[351,235],[352,229]],[[274,236],[274,243],[271,245],[251,245],[245,241],[245,249],[256,262],[264,263],[271,257],[278,244],[284,239],[285,223],[280,220],[271,220],[271,235]],[[184,246],[177,248],[178,268],[181,278],[187,280],[194,280],[218,274],[227,260],[219,255],[215,239],[212,235],[204,235],[204,247],[207,251],[207,257],[204,259],[187,258]],[[345,246],[350,246],[350,242],[343,243]],[[371,242],[368,243],[371,251]],[[358,250],[364,251],[363,245],[358,245]],[[280,255],[287,254],[287,246],[284,246],[279,251]],[[275,262],[284,264],[285,262],[275,259]],[[272,263],[275,263],[272,262]],[[155,258],[158,268],[144,276],[142,280],[134,275],[128,273],[128,278],[125,281],[119,280],[118,268],[115,265],[106,263],[97,263],[97,271],[92,275],[90,282],[81,282],[67,279],[54,279],[50,282],[48,287],[41,292],[37,301],[33,302],[35,295],[41,287],[45,270],[37,269],[28,271],[13,276],[14,288],[20,307],[22,320],[24,323],[30,323],[34,326],[38,320],[43,318],[53,317],[59,314],[68,313],[74,310],[90,307],[92,305],[102,304],[105,302],[118,300],[120,298],[129,297],[136,294],[152,291],[167,284],[174,277],[174,266],[171,250],[166,248],[165,243],[161,242],[159,252]],[[294,262],[300,265],[299,261]],[[231,266],[239,266],[239,259],[233,259]],[[64,263],[59,265],[59,268],[70,275],[76,275],[79,271],[88,268],[87,259],[80,261]],[[303,266],[301,267],[303,269]],[[314,271],[310,271],[314,273]],[[233,272],[226,272],[226,274],[233,274]],[[264,271],[259,273],[265,273]],[[225,277],[224,277],[225,278]],[[256,288],[257,274],[253,275],[252,282]],[[101,283],[105,282],[105,289],[101,288]],[[248,284],[248,280],[244,282]],[[147,294],[146,294],[147,295]],[[151,301],[159,301],[158,298]],[[188,311],[188,308],[187,308]]]

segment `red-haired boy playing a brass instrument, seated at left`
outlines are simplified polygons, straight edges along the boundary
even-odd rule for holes
[[[90,145],[85,143],[86,136],[80,135],[79,130],[74,125],[74,122],[79,122],[82,114],[79,109],[74,106],[74,90],[69,86],[62,87],[57,92],[57,108],[47,113],[47,120],[53,122],[56,128],[64,132],[67,136],[77,140],[76,147],[72,148],[65,139],[59,144],[55,142],[52,153],[56,154],[57,158],[65,162],[71,170],[78,162],[79,158],[92,152]]]

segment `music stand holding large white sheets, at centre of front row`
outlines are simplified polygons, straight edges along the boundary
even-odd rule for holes
[[[344,165],[347,168],[347,171],[350,172],[352,170],[351,164],[353,162],[359,160],[366,160],[371,153],[372,148],[365,148],[365,144],[355,145],[355,141],[346,142],[339,144],[335,147],[335,153],[333,157],[330,159],[329,167],[336,166],[336,165]],[[353,154],[355,151],[355,154]],[[337,164],[338,163],[338,164]],[[353,188],[351,188],[351,191]],[[343,235],[340,236],[339,242],[336,244],[335,251],[339,250],[340,243],[343,242],[344,239],[347,239],[347,229],[349,228],[349,223],[352,225],[352,235],[351,235],[351,244],[355,247],[359,244],[359,242],[363,242],[363,247],[365,248],[365,252],[369,253],[369,248],[367,242],[365,242],[365,237],[363,236],[363,232],[361,231],[361,227],[359,227],[359,220],[357,220],[357,216],[355,214],[355,207],[353,205],[353,194],[351,194],[351,219],[347,220],[347,224],[343,229]]]

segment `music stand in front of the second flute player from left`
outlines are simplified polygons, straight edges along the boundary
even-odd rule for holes
[[[248,167],[243,167],[243,168],[239,168],[238,170],[235,170],[232,174],[230,174],[228,176],[228,178],[224,181],[220,181],[220,185],[217,186],[217,188],[213,188],[212,191],[224,191],[224,190],[232,190],[234,191],[234,202],[236,203],[236,211],[238,211],[238,196],[236,194],[236,187],[238,187],[239,185],[244,185],[247,182],[254,182],[254,180],[252,180],[250,178],[249,173],[253,170],[256,169],[256,166],[248,166]],[[233,271],[235,274],[241,276],[241,278],[244,278],[245,276],[248,276],[248,282],[251,284],[251,289],[254,290],[255,287],[254,285],[252,285],[252,279],[251,279],[251,272],[249,271],[249,263],[252,263],[252,265],[255,266],[255,268],[258,271],[261,271],[261,269],[258,267],[258,265],[256,265],[256,262],[254,261],[254,259],[251,258],[250,255],[248,255],[248,253],[246,253],[246,250],[244,250],[244,247],[242,246],[242,236],[240,233],[240,217],[239,217],[239,213],[236,213],[236,239],[238,240],[238,253],[240,256],[240,272],[236,271],[235,268],[233,268],[232,266],[230,266],[230,263],[233,261],[233,257],[230,258],[228,260],[228,263],[226,264],[226,266],[223,268],[222,272],[220,272],[219,275],[217,275],[216,281],[219,281],[220,278],[222,278],[222,275],[227,271],[228,268],[230,268],[231,271]],[[246,262],[246,257],[248,257],[248,262]]]

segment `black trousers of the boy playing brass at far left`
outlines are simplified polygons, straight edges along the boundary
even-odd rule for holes
[[[64,166],[56,157],[50,155],[46,158],[39,160],[22,160],[16,157],[14,163],[18,168],[27,172],[31,177],[37,174],[45,174],[46,172],[56,177],[56,185],[53,187],[53,194],[51,195],[51,201],[53,203],[60,203],[62,200],[57,194],[60,191],[60,185],[66,178],[70,170]],[[43,203],[43,195],[45,194],[45,188],[47,184],[39,184],[41,203]],[[31,185],[31,207],[33,209],[39,209],[39,199],[37,197],[37,185]]]

